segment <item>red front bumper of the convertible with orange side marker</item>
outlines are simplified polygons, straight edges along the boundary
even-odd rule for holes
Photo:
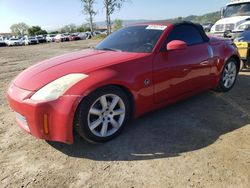
[[[34,92],[12,84],[7,98],[18,125],[39,139],[73,143],[73,120],[79,96],[62,96],[55,101],[37,102]]]

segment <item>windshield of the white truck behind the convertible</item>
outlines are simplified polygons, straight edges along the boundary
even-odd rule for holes
[[[250,3],[240,3],[227,6],[224,17],[232,16],[249,16],[250,15]]]

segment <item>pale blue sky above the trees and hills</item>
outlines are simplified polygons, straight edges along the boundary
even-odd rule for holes
[[[159,20],[179,16],[202,15],[219,11],[229,0],[128,0],[111,19]],[[96,0],[95,21],[105,20],[103,0]],[[0,33],[9,32],[10,26],[25,22],[53,30],[64,25],[86,23],[80,0],[0,0]]]

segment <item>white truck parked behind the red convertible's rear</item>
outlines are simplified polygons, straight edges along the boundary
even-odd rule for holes
[[[222,37],[234,37],[250,19],[250,0],[232,0],[221,9],[221,19],[211,28],[211,33]]]

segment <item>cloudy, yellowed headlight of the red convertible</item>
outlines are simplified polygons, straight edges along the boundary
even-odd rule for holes
[[[31,97],[31,99],[35,101],[56,100],[71,86],[87,77],[88,75],[80,73],[65,75],[42,87]]]

